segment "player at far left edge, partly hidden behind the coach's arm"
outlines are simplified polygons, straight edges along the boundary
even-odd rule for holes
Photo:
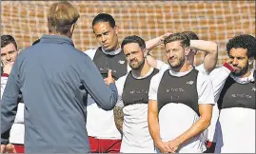
[[[18,55],[18,48],[15,39],[11,35],[1,35],[1,101],[3,92],[8,82],[10,70]],[[10,129],[10,143],[6,147],[6,152],[24,153],[24,104],[18,103],[17,115]]]

